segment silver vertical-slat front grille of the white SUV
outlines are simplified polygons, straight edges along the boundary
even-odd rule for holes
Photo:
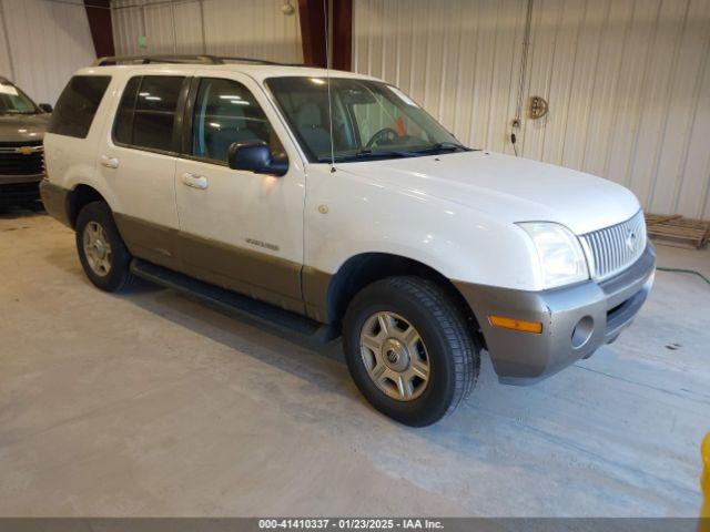
[[[621,224],[581,236],[591,277],[608,279],[633,264],[646,249],[646,221],[639,211]]]

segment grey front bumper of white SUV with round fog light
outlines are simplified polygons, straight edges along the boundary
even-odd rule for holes
[[[653,284],[656,249],[619,275],[544,291],[457,283],[480,328],[501,382],[528,385],[590,357],[616,340],[646,301]],[[540,334],[493,327],[488,316],[542,324]]]

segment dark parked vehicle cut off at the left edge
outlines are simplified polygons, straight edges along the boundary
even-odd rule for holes
[[[0,78],[0,207],[39,201],[44,176],[42,137],[52,108],[36,104],[19,86]]]

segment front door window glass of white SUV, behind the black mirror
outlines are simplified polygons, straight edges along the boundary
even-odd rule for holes
[[[200,81],[192,121],[192,154],[226,162],[234,142],[263,141],[278,156],[283,151],[268,119],[252,93],[232,80]]]

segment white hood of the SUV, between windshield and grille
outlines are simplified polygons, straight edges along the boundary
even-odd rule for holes
[[[633,216],[627,188],[582,172],[489,152],[338,164],[419,198],[445,200],[504,222],[556,222],[582,235]]]

